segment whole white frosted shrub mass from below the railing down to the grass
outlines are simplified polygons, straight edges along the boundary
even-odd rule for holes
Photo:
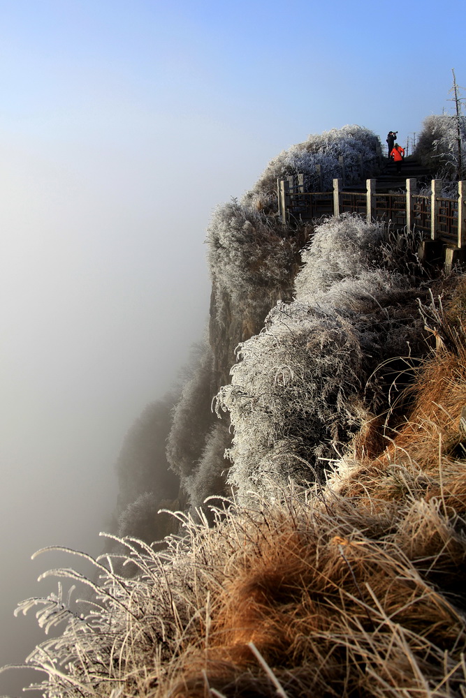
[[[267,491],[270,478],[319,477],[370,410],[386,406],[381,374],[366,386],[374,369],[425,348],[417,267],[395,271],[407,248],[395,246],[390,259],[388,237],[351,216],[323,223],[304,253],[295,301],[279,302],[263,332],[240,345],[217,410],[233,424],[228,480],[241,501]]]

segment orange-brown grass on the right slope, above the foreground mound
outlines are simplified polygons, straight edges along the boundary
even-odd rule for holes
[[[432,355],[409,388],[412,406],[401,424],[374,418],[353,443],[354,467],[340,481],[348,497],[400,499],[423,493],[465,511],[466,281],[458,284],[449,310],[436,313]],[[403,473],[400,475],[400,466]]]

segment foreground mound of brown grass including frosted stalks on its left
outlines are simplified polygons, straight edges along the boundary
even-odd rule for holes
[[[373,505],[291,487],[212,528],[182,517],[168,551],[134,546],[142,576],[112,581],[101,621],[70,623],[71,681],[55,641],[36,654],[45,695],[464,698],[464,516],[445,490],[410,491]]]

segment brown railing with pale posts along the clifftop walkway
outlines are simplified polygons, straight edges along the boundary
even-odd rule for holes
[[[365,192],[343,191],[333,179],[333,191],[304,191],[303,175],[279,179],[278,210],[284,223],[340,216],[348,211],[368,221],[386,221],[393,228],[418,230],[425,237],[454,248],[466,247],[466,181],[458,182],[458,197],[442,196],[442,181],[432,179],[428,195],[416,193],[416,179],[406,180],[406,193],[377,193],[376,180],[366,179]]]

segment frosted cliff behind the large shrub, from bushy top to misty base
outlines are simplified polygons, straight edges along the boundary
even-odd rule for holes
[[[321,165],[323,186],[330,189],[340,156],[345,158],[347,181],[357,180],[361,158],[365,174],[374,173],[378,147],[378,138],[358,126],[310,136],[274,158],[241,201],[232,200],[214,211],[206,239],[212,280],[208,339],[173,408],[167,439],[168,463],[180,479],[178,505],[200,506],[207,496],[231,491],[231,461],[224,458],[231,447],[230,417],[227,410],[220,422],[212,412],[212,399],[230,383],[238,346],[259,335],[277,302],[293,301],[293,282],[302,265],[300,251],[314,226],[282,223],[277,177],[303,172],[308,186],[315,189],[316,165]]]

